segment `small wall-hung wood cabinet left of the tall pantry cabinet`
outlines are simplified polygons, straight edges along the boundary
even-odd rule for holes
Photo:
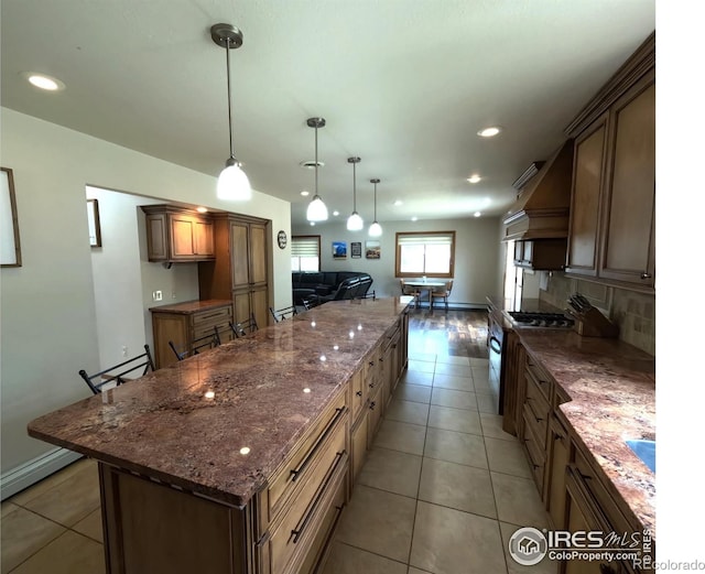
[[[172,205],[143,205],[148,259],[155,262],[207,261],[215,257],[210,216]]]

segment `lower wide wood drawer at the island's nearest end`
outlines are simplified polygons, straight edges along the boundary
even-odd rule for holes
[[[345,497],[347,465],[347,452],[335,453],[333,463],[318,464],[300,496],[292,499],[268,542],[271,574],[299,572],[334,500]]]

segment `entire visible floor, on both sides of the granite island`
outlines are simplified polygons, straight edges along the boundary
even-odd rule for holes
[[[513,574],[518,527],[547,526],[487,385],[484,313],[412,311],[409,370],[336,533],[325,574]],[[2,502],[2,574],[105,572],[96,464]],[[532,566],[533,574],[555,566]]]

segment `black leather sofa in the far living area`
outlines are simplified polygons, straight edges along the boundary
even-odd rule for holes
[[[325,303],[364,297],[371,284],[370,274],[360,271],[292,271],[291,274],[294,305],[303,305],[306,300]]]

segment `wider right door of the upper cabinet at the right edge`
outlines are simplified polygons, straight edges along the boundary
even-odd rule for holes
[[[653,286],[655,79],[646,76],[610,111],[612,155],[600,277]]]

